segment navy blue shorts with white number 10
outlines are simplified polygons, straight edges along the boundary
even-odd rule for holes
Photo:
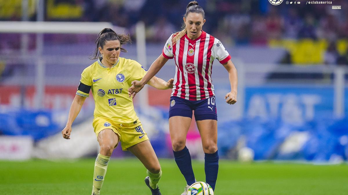
[[[192,110],[195,111],[196,120],[217,120],[215,96],[197,101],[171,96],[169,118],[174,116],[192,118]]]

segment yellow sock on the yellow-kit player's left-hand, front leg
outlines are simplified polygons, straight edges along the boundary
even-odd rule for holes
[[[110,156],[104,156],[100,153],[95,159],[92,194],[94,193],[95,195],[100,195],[100,189],[102,188],[104,182],[109,160]]]

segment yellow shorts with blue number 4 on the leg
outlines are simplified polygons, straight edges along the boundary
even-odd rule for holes
[[[102,130],[113,130],[113,132],[118,135],[119,141],[121,141],[122,150],[124,151],[127,151],[130,146],[149,139],[147,133],[143,130],[143,126],[139,119],[130,124],[116,124],[112,119],[96,117],[93,119],[93,127],[97,139],[98,134]]]

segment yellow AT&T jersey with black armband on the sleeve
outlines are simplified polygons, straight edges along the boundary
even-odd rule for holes
[[[132,123],[136,116],[128,88],[133,80],[141,80],[147,70],[137,61],[120,58],[111,67],[104,66],[102,58],[85,68],[81,74],[77,95],[88,97],[89,91],[95,102],[94,117],[106,117],[119,124]]]

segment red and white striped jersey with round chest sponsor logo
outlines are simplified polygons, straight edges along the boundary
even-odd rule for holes
[[[216,58],[221,64],[231,56],[221,41],[202,31],[195,40],[185,34],[175,45],[172,36],[167,40],[162,54],[175,60],[175,77],[172,96],[187,100],[203,100],[214,96],[212,65]]]

